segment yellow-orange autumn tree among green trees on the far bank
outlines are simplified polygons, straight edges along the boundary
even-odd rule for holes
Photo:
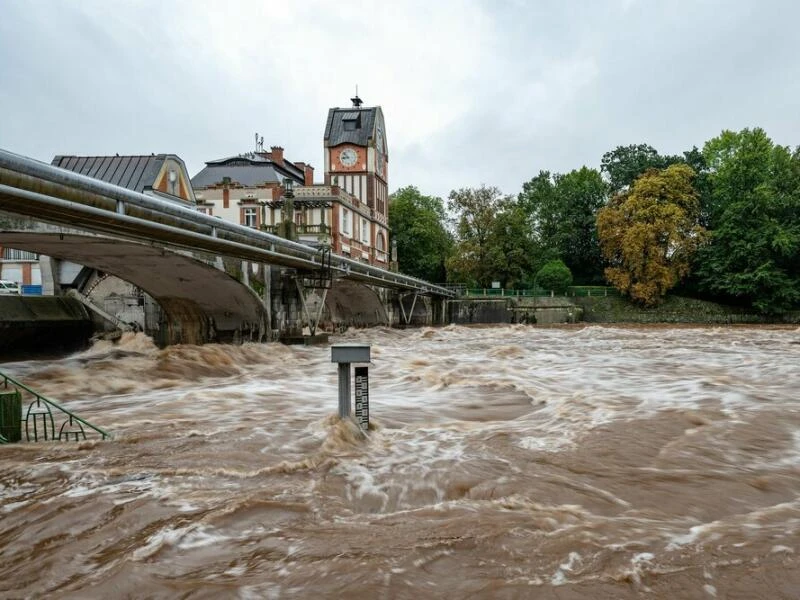
[[[632,300],[653,306],[690,271],[706,239],[694,172],[684,164],[650,170],[597,215],[606,278]]]

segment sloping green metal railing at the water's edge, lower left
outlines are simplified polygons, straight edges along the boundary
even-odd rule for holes
[[[25,439],[27,441],[38,442],[42,440],[66,440],[80,441],[87,439],[86,430],[92,430],[100,434],[102,439],[110,438],[111,434],[107,431],[92,425],[82,419],[72,411],[64,408],[57,402],[46,398],[39,392],[32,390],[25,384],[0,372],[0,389],[9,389],[9,384],[16,388],[17,392],[24,390],[31,396],[30,404],[25,411],[25,417],[20,421],[20,427],[24,425]],[[55,415],[54,415],[55,411]],[[56,429],[56,420],[64,419],[60,427]],[[8,443],[9,440],[0,435],[0,443]]]

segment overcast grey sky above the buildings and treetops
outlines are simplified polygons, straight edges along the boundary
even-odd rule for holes
[[[0,147],[204,161],[381,105],[389,187],[496,185],[761,126],[800,144],[800,3],[0,0]]]

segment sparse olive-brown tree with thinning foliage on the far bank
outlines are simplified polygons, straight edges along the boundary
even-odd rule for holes
[[[447,260],[448,280],[489,287],[504,273],[524,268],[517,264],[522,260],[519,254],[508,256],[503,249],[504,225],[508,224],[505,213],[514,210],[515,205],[510,197],[495,187],[482,185],[453,190],[447,204],[455,215],[456,229],[453,254]],[[503,216],[501,221],[499,215]]]

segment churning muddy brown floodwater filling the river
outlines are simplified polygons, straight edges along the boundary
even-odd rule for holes
[[[0,369],[111,441],[0,446],[0,597],[800,598],[800,330],[141,334]]]

